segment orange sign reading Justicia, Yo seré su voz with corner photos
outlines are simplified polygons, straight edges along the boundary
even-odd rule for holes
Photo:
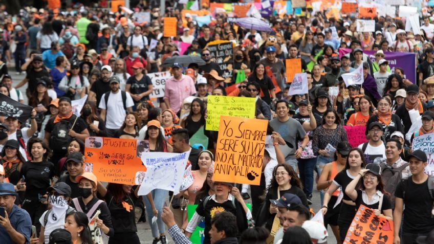
[[[146,171],[140,159],[144,151],[149,151],[147,141],[89,137],[85,141],[84,168],[99,181],[140,185]]]

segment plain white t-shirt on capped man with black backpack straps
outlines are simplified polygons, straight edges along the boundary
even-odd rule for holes
[[[126,107],[134,106],[133,98],[129,93],[126,93]],[[105,107],[105,94],[102,95],[99,102],[99,108],[106,109],[105,114],[105,127],[107,129],[119,129],[126,116],[125,109],[123,108],[123,101],[121,90],[118,93],[110,92],[108,96],[107,107]]]

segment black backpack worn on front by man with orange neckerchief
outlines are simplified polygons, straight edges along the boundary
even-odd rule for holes
[[[71,118],[75,119],[74,115]],[[50,148],[52,150],[64,151],[68,148],[68,145],[72,139],[72,137],[68,135],[68,131],[72,127],[70,120],[71,119],[60,120],[54,124],[53,130],[50,134]]]

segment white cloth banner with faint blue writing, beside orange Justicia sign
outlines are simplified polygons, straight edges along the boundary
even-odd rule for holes
[[[142,153],[141,159],[147,170],[138,194],[146,195],[154,189],[173,191],[173,194],[178,194],[190,151]]]

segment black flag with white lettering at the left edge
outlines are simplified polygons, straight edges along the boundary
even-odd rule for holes
[[[30,118],[33,107],[17,102],[3,93],[0,93],[0,101],[1,116],[16,118],[21,123],[24,123],[28,118]]]

